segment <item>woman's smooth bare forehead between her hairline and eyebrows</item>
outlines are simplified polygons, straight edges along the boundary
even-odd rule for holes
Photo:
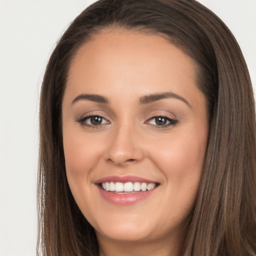
[[[132,88],[138,96],[182,89],[189,93],[197,90],[195,67],[187,54],[158,34],[102,31],[78,49],[66,90],[109,94],[111,89],[111,95],[121,95]]]

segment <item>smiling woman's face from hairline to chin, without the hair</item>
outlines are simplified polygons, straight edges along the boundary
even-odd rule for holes
[[[190,57],[159,35],[95,35],[71,63],[62,125],[67,180],[99,241],[180,233],[208,135]]]

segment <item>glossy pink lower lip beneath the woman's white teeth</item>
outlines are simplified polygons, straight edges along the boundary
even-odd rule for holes
[[[148,196],[150,196],[155,191],[156,188],[157,187],[154,187],[153,189],[147,191],[136,191],[129,194],[118,194],[113,193],[111,191],[106,191],[102,189],[100,186],[98,186],[99,192],[105,200],[120,205],[132,204],[144,200]]]

